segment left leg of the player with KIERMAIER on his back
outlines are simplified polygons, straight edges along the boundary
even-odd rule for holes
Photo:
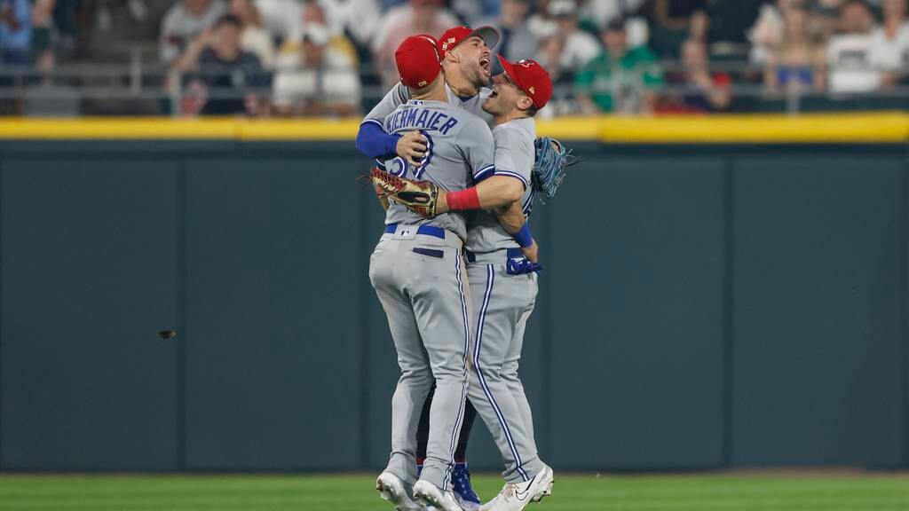
[[[395,242],[380,242],[370,259],[370,279],[385,309],[395,341],[401,376],[392,397],[392,442],[388,466],[376,481],[376,489],[398,509],[416,510],[413,485],[416,481],[416,429],[419,411],[432,386],[429,367],[416,318],[409,298],[395,283]]]

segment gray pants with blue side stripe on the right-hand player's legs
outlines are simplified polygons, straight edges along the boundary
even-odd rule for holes
[[[504,265],[468,266],[474,295],[474,351],[469,396],[504,459],[505,480],[529,481],[544,469],[532,431],[502,377],[514,329],[533,299],[530,276],[509,276]]]

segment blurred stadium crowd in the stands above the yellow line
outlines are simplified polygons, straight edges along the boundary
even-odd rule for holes
[[[59,63],[125,62],[114,49],[145,41],[163,78],[143,86],[176,91],[164,111],[356,115],[397,80],[407,35],[493,25],[496,51],[553,76],[551,115],[724,112],[747,109],[747,95],[896,95],[909,84],[906,10],[906,0],[0,0],[0,55],[7,72],[33,70],[34,88]],[[0,88],[15,85],[9,76]]]

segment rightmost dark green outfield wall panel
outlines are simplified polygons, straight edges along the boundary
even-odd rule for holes
[[[904,159],[734,164],[736,466],[903,463]]]

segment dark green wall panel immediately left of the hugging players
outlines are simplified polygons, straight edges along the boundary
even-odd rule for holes
[[[355,161],[187,164],[188,468],[362,465]]]

